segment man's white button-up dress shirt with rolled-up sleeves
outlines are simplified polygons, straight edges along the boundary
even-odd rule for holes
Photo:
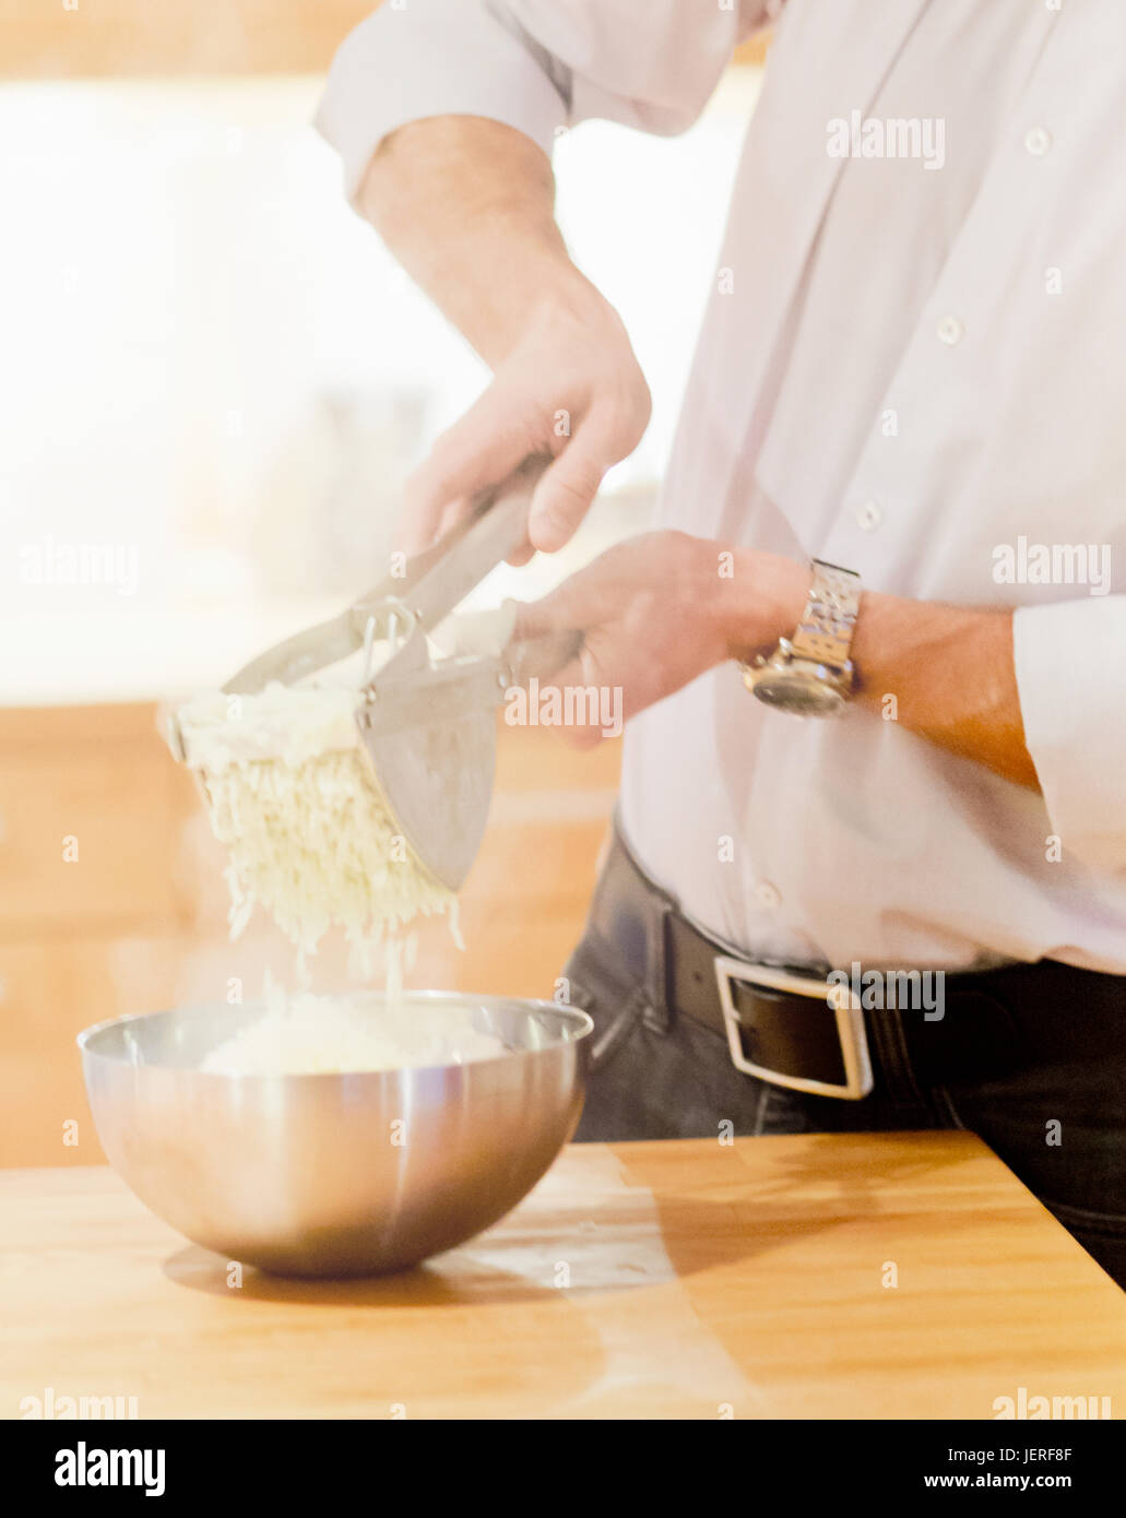
[[[344,43],[319,126],[351,194],[425,115],[548,152],[593,115],[677,132],[772,20],[662,525],[1017,607],[1043,797],[860,709],[772,712],[725,665],[628,726],[625,833],[751,955],[1126,973],[1121,0],[410,0]],[[860,156],[901,120],[920,156]],[[1067,583],[1077,545],[1096,583]]]

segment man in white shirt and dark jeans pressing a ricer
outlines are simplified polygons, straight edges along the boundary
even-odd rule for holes
[[[411,545],[546,452],[557,550],[634,448],[548,155],[681,131],[768,23],[662,530],[524,616],[633,716],[580,1137],[967,1126],[1123,1283],[1118,0],[384,6],[319,124],[495,375]]]

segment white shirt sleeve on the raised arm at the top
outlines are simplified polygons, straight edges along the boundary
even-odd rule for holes
[[[483,115],[551,153],[590,117],[675,134],[695,121],[736,44],[785,0],[408,0],[341,44],[316,114],[349,200],[376,147],[429,115]]]

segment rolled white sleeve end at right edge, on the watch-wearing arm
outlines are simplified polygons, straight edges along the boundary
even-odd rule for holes
[[[1065,852],[1126,870],[1126,597],[1014,613],[1024,741]]]

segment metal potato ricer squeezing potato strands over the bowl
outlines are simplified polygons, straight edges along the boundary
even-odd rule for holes
[[[255,695],[272,682],[297,685],[360,650],[364,674],[355,723],[360,745],[407,842],[455,891],[477,858],[496,764],[496,707],[504,692],[555,674],[575,656],[578,633],[508,642],[499,653],[434,657],[431,638],[480,581],[527,537],[531,493],[548,460],[530,458],[437,543],[407,560],[340,616],[259,654],[223,686]],[[388,653],[372,672],[372,650]],[[175,712],[165,713],[173,754],[187,761]]]

